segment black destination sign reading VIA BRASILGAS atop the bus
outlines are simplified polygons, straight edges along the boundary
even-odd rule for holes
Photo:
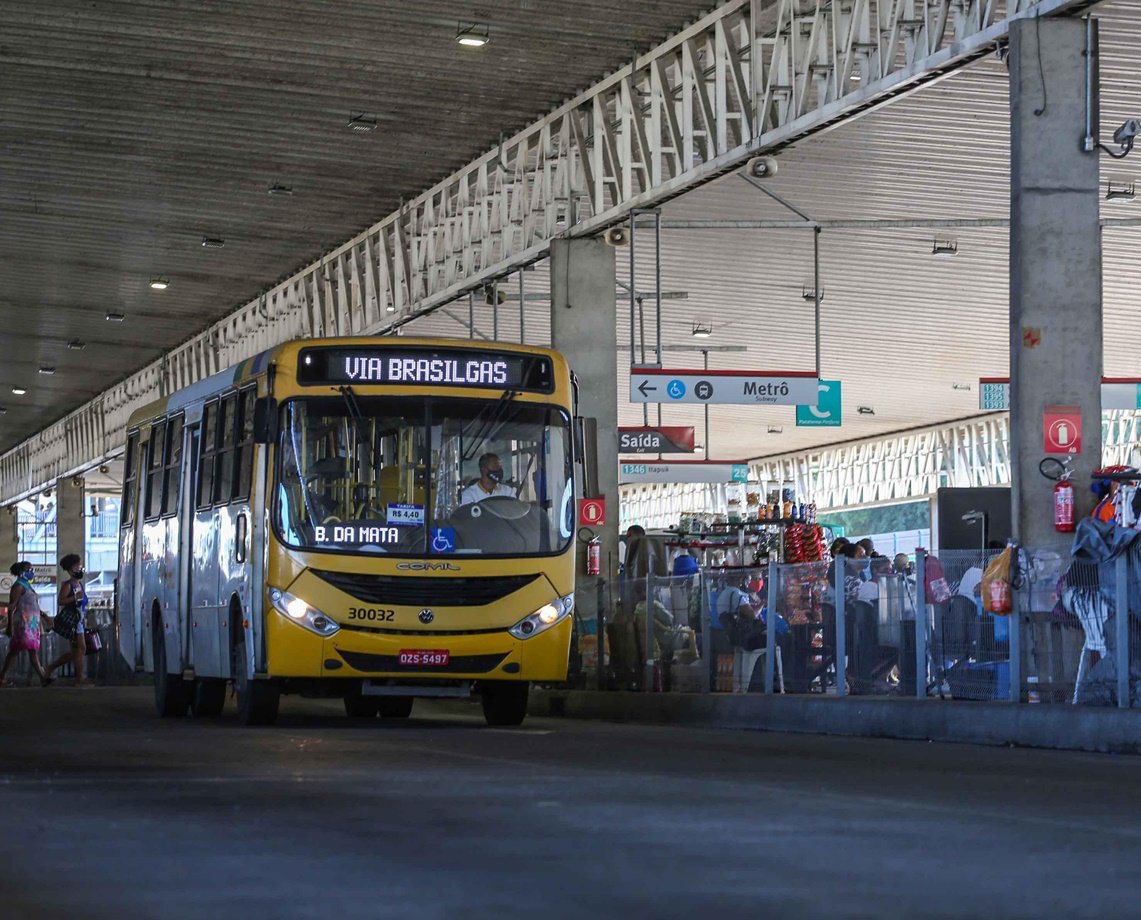
[[[442,386],[527,389],[555,388],[550,358],[471,348],[306,348],[298,369],[301,384],[348,386]]]

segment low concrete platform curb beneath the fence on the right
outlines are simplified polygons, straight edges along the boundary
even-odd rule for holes
[[[1074,705],[533,688],[532,716],[1141,753],[1141,712]]]

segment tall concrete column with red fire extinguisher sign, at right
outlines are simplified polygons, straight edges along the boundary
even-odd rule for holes
[[[1054,484],[1038,473],[1044,409],[1082,412],[1078,517],[1092,510],[1090,473],[1101,462],[1099,154],[1083,150],[1087,63],[1098,130],[1097,23],[1093,49],[1087,62],[1082,19],[1011,26],[1011,500],[1013,533],[1028,547],[1067,539],[1053,527]]]

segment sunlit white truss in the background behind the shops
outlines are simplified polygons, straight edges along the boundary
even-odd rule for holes
[[[1106,412],[1102,463],[1141,465],[1141,413]],[[938,489],[1010,484],[1010,417],[985,415],[888,438],[853,442],[750,465],[763,492],[794,487],[832,511],[922,501]],[[667,527],[681,515],[726,510],[725,486],[626,485],[622,525]],[[704,503],[703,503],[704,502]]]

